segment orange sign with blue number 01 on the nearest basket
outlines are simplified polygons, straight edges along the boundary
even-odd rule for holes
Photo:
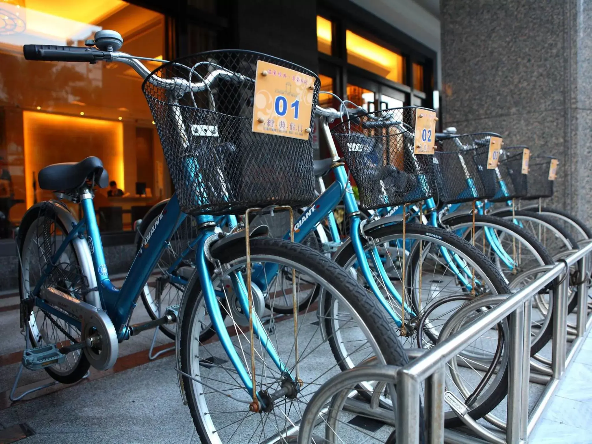
[[[253,131],[308,139],[312,132],[315,80],[313,76],[258,60]]]

